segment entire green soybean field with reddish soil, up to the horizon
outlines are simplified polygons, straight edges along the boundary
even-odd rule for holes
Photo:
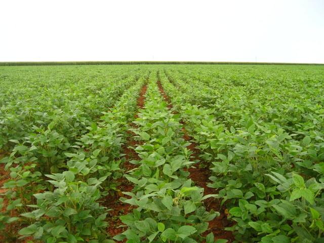
[[[324,242],[324,65],[0,66],[0,242]]]

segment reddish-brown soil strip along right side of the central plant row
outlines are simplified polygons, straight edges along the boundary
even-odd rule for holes
[[[163,96],[164,100],[168,103],[168,107],[172,108],[173,105],[171,104],[170,97],[165,93],[163,86],[161,85],[161,82],[158,78],[157,80],[157,86],[160,91],[160,94]],[[195,167],[191,167],[188,169],[190,172],[190,178],[195,182],[196,185],[204,188],[204,195],[208,194],[215,194],[217,193],[215,189],[210,188],[207,186],[207,183],[209,182],[210,170],[209,165],[207,163],[204,163],[204,161],[201,161],[199,158],[200,150],[197,149],[197,144],[194,143],[192,140],[193,138],[190,137],[185,129],[185,122],[181,121],[181,124],[183,124],[182,132],[183,132],[183,138],[185,141],[190,142],[191,144],[187,147],[192,152],[192,160],[199,160],[197,164],[195,164]],[[234,236],[231,231],[225,230],[225,227],[229,227],[232,225],[231,222],[227,220],[226,215],[226,208],[223,206],[220,206],[220,200],[217,198],[210,197],[204,201],[205,207],[208,211],[214,210],[220,213],[220,216],[215,218],[214,220],[209,222],[209,230],[204,233],[204,235],[207,235],[210,232],[214,233],[215,240],[216,239],[227,239],[228,242],[232,242],[234,240]]]

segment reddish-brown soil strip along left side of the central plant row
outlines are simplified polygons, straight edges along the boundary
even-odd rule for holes
[[[137,109],[142,109],[145,104],[145,94],[147,90],[147,84],[145,84],[139,94],[139,97],[137,99]],[[134,115],[134,119],[138,117],[138,114]],[[129,126],[136,128],[136,125],[133,123],[129,124]],[[125,168],[125,171],[129,171],[134,169],[136,166],[131,164],[129,161],[132,159],[139,160],[140,158],[138,157],[138,154],[136,151],[133,149],[137,145],[140,144],[139,141],[134,140],[135,134],[131,131],[128,131],[128,137],[126,140],[126,144],[122,147],[123,152],[126,158],[125,163],[123,164],[123,167]],[[108,228],[107,232],[110,236],[115,236],[117,234],[122,233],[125,229],[123,227],[119,227],[123,225],[121,223],[119,216],[120,215],[126,215],[130,213],[134,207],[129,205],[129,204],[124,204],[122,203],[119,198],[120,197],[128,197],[123,194],[123,191],[129,191],[131,192],[133,190],[134,185],[130,183],[125,177],[121,177],[120,179],[117,180],[118,186],[117,186],[117,193],[115,195],[108,195],[106,198],[104,198],[105,202],[102,204],[103,206],[107,207],[110,211],[108,212]],[[125,240],[126,241],[126,240]],[[122,241],[124,242],[124,241]]]

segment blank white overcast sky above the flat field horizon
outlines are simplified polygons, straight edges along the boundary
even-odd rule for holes
[[[0,61],[324,63],[324,0],[1,0],[0,23]]]

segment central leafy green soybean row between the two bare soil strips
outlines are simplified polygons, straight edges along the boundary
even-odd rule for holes
[[[203,195],[204,189],[188,179],[189,145],[183,139],[180,116],[168,109],[159,94],[156,72],[149,78],[145,108],[141,109],[132,129],[141,145],[135,148],[140,160],[125,175],[134,184],[121,200],[135,209],[120,219],[127,229],[114,237],[128,243],[185,242],[214,240],[213,233],[203,237],[208,222],[219,215],[206,211],[203,201],[215,195]]]

